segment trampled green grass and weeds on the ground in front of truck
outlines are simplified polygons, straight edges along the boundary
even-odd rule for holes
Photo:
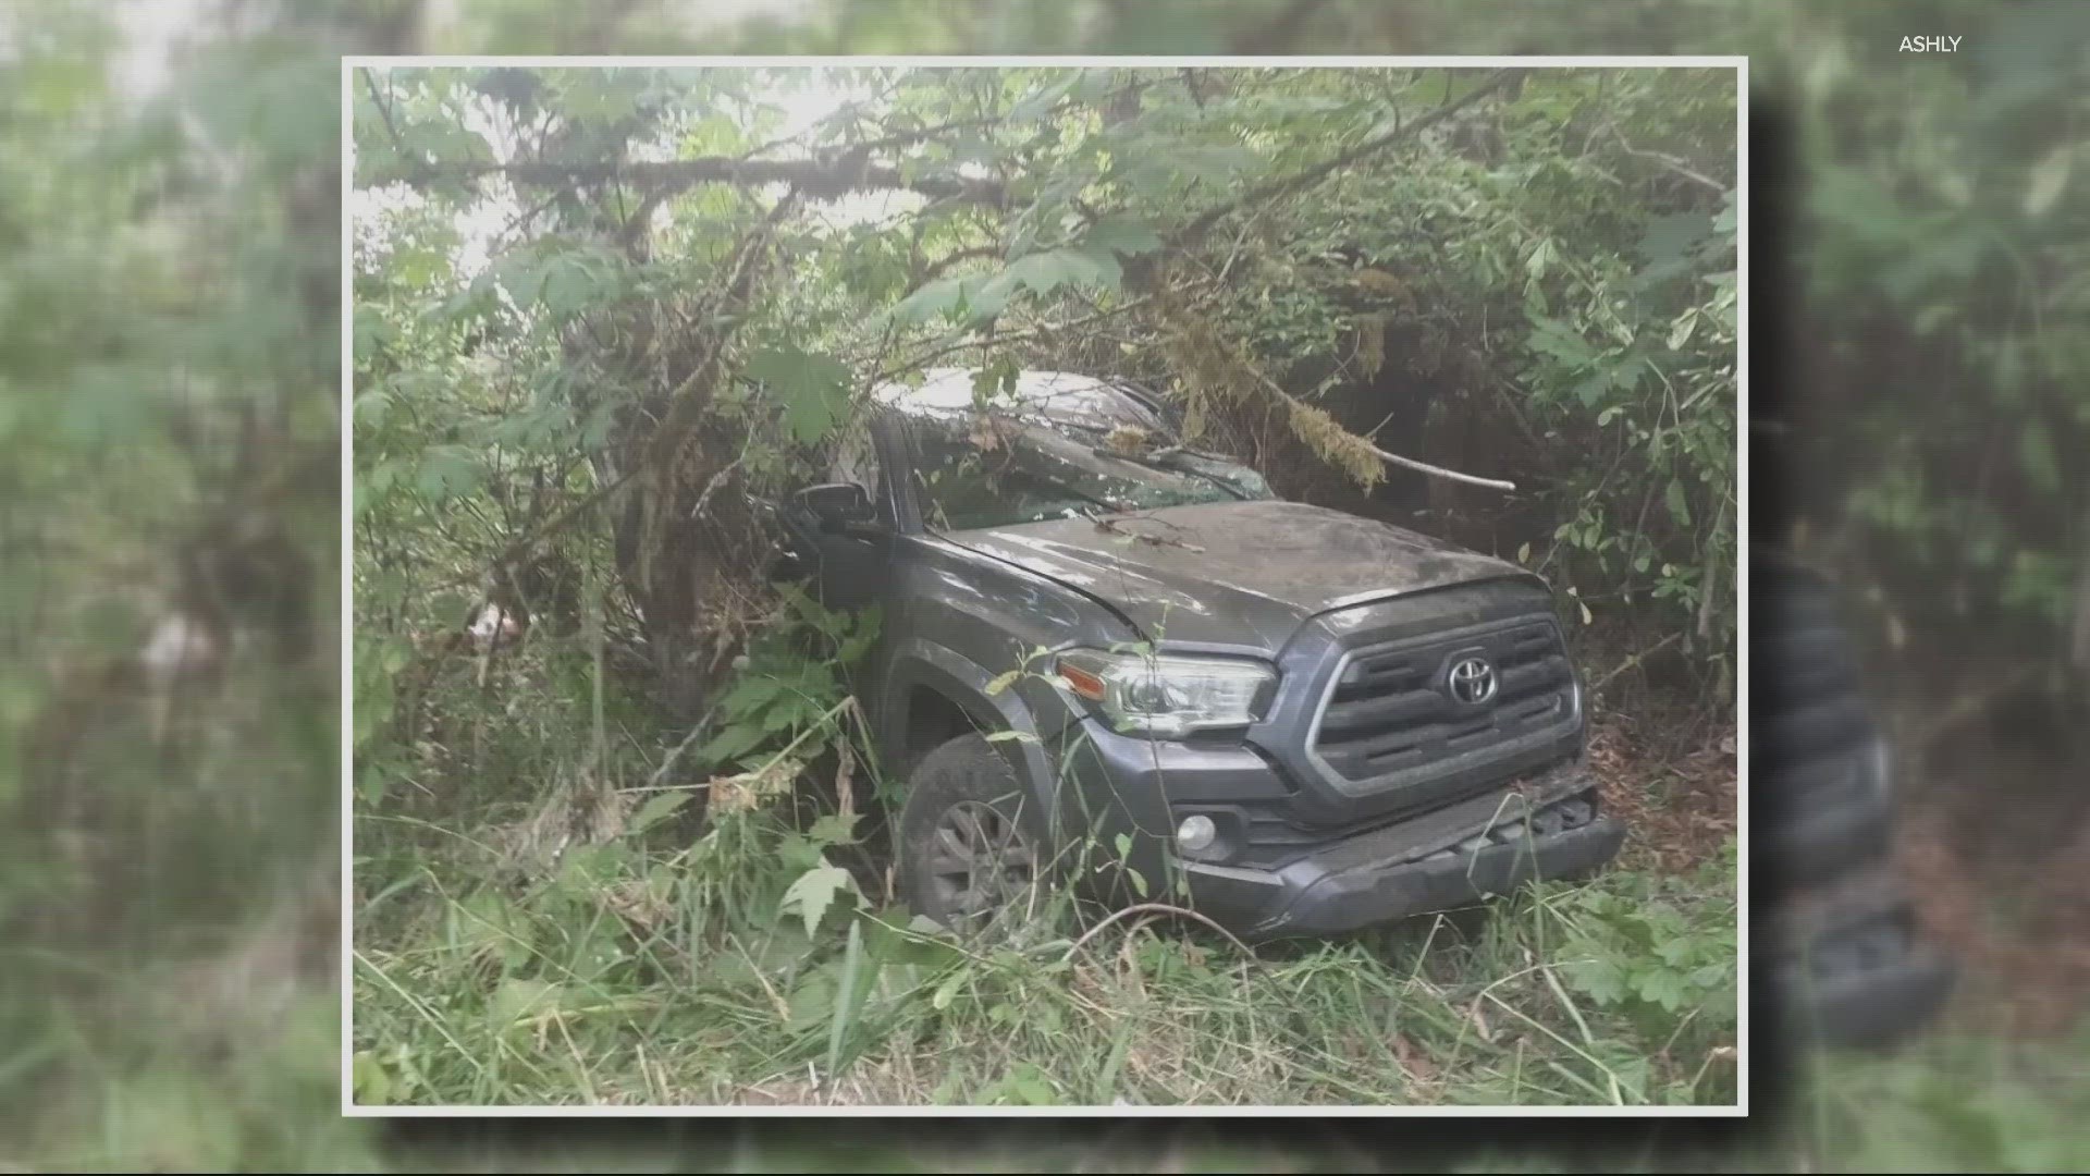
[[[568,852],[510,900],[481,862],[397,885],[420,935],[359,948],[364,1103],[1731,1103],[1733,900],[1670,910],[1710,967],[1643,963],[1597,894],[1244,956],[1154,925],[957,944],[823,873],[819,837],[723,818],[677,860]],[[782,858],[750,873],[746,858]],[[729,873],[734,866],[740,873]],[[796,875],[796,879],[792,879]],[[811,885],[809,885],[811,883]],[[1611,883],[1634,889],[1632,881]],[[395,898],[393,902],[401,902]],[[861,910],[855,910],[861,902]],[[807,925],[813,933],[807,933]],[[1124,923],[1131,925],[1131,923]],[[1120,925],[1120,927],[1124,927]],[[372,935],[376,942],[389,937]],[[1632,960],[1609,971],[1609,958]]]

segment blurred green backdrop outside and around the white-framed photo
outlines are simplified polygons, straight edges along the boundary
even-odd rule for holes
[[[1396,1161],[1379,1149],[1394,1132],[1363,1128],[1313,1143],[1198,1126],[865,1132],[830,1149],[738,1126],[339,1120],[339,54],[1747,52],[1751,446],[1779,471],[1758,475],[1751,538],[1843,590],[1894,737],[1900,866],[1963,983],[1889,1055],[1795,1057],[1785,1113],[1747,1134],[1492,1153],[1436,1130],[1440,1145],[1402,1155],[2084,1166],[2086,33],[2090,8],[2065,2],[10,6],[0,1161]],[[1906,36],[1963,42],[1908,54]]]

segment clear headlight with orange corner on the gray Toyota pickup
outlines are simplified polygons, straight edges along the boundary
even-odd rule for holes
[[[1183,657],[1072,649],[1053,670],[1066,688],[1104,707],[1112,726],[1179,739],[1262,718],[1277,672],[1235,657]]]

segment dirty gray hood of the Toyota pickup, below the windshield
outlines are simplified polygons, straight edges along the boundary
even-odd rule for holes
[[[1304,502],[1208,502],[945,534],[1124,613],[1150,638],[1277,653],[1344,605],[1476,580],[1536,578],[1427,536]]]

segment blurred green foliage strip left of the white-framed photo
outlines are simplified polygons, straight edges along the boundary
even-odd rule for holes
[[[123,48],[0,15],[0,1153],[353,1161],[328,63]]]

